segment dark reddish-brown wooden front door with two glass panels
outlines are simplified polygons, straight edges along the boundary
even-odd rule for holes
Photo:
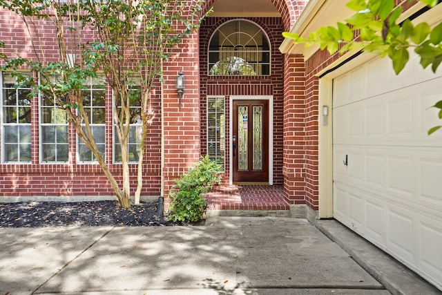
[[[233,100],[233,182],[269,182],[269,101]]]

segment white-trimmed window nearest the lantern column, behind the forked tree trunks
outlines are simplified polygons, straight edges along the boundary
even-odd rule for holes
[[[131,107],[130,107],[130,126],[129,126],[129,135],[128,135],[128,161],[132,163],[138,162],[138,153],[141,149],[141,135],[142,135],[142,122],[141,122],[141,86],[140,82],[136,82],[135,79],[134,86],[128,87],[128,93],[131,95]],[[116,99],[116,111],[120,112],[122,110],[121,103],[119,102],[119,97],[115,97]],[[124,119],[123,119],[124,120]],[[116,130],[116,126],[114,127],[114,147],[113,147],[113,155],[114,162],[121,163],[122,162],[122,149],[119,144],[118,134]]]

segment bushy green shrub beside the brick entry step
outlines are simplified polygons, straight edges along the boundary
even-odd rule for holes
[[[197,222],[202,219],[207,204],[204,193],[212,189],[213,183],[220,184],[222,167],[209,160],[209,156],[201,160],[175,180],[173,190],[169,193],[169,220],[174,222]]]

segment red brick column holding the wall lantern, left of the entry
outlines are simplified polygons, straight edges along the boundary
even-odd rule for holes
[[[186,173],[200,159],[200,75],[198,34],[184,40],[177,53],[164,63],[164,201],[175,178]],[[186,89],[181,105],[175,89],[175,77],[182,71]]]

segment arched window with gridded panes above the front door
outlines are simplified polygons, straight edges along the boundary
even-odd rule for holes
[[[222,24],[209,44],[209,75],[270,75],[270,45],[265,32],[251,21]]]

